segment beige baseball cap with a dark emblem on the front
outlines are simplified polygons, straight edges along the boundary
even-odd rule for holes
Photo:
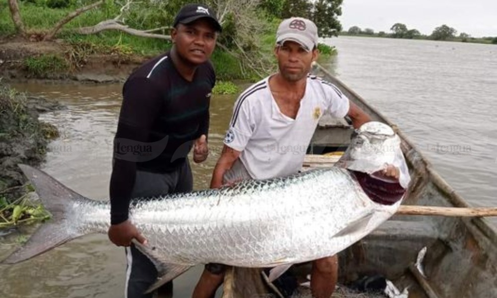
[[[298,42],[306,51],[318,45],[318,27],[303,17],[291,17],[283,20],[276,31],[276,44],[291,40]]]

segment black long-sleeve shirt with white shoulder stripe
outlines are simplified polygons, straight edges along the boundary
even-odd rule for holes
[[[173,171],[185,161],[194,140],[207,136],[215,82],[210,62],[198,66],[192,81],[187,81],[169,53],[129,76],[114,138],[111,224],[128,219],[137,170]]]

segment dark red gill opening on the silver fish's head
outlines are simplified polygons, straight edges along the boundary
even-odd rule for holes
[[[406,189],[397,180],[381,179],[373,174],[367,174],[360,171],[352,171],[362,190],[369,199],[381,205],[394,205],[402,200]]]

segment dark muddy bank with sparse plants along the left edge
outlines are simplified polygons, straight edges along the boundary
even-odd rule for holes
[[[24,185],[17,164],[40,162],[47,137],[56,135],[52,125],[38,121],[24,94],[0,80],[0,229],[48,217],[42,207],[27,200],[33,189]]]

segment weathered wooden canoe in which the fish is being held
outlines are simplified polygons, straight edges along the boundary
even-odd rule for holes
[[[394,123],[321,66],[314,71],[338,86],[373,120],[390,125],[401,137],[412,177],[403,204],[470,207]],[[322,119],[304,167],[332,165],[339,156],[320,154],[345,149],[351,132],[352,128],[345,121]],[[423,247],[427,247],[423,261],[426,277],[414,266]],[[409,297],[497,297],[497,233],[485,218],[397,215],[342,251],[339,264],[341,284],[365,275],[381,274],[400,289],[409,287]],[[258,269],[231,268],[223,290],[223,298],[276,297],[268,294]]]

